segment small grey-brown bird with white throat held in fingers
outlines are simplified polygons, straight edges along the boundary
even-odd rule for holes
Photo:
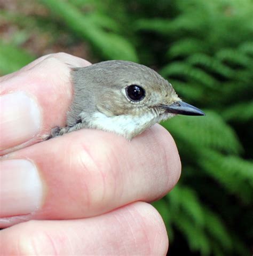
[[[177,96],[153,69],[124,60],[102,61],[71,72],[74,96],[67,126],[48,138],[81,128],[110,131],[131,140],[156,122],[176,114],[204,115]]]

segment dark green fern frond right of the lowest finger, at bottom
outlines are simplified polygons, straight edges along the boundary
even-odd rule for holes
[[[168,210],[163,209],[160,213],[163,219],[169,216],[170,221],[187,238],[192,251],[199,250],[203,255],[210,255],[211,252],[224,255],[224,251],[233,249],[231,234],[223,220],[201,204],[193,189],[178,184],[166,199],[167,203],[164,199],[160,201],[162,207],[167,207]],[[157,210],[159,211],[159,207]]]

